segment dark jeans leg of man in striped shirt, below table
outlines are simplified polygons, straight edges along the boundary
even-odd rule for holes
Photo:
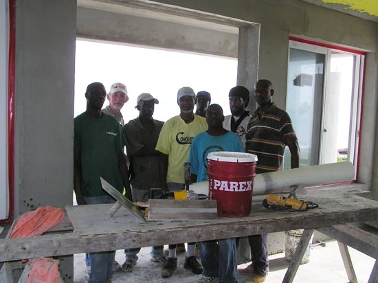
[[[248,236],[254,273],[266,276],[269,268],[267,234]]]

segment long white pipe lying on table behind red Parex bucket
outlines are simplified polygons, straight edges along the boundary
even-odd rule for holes
[[[349,161],[307,166],[291,170],[257,174],[254,177],[254,195],[279,192],[291,185],[309,187],[311,185],[326,185],[352,181],[355,179],[355,168]],[[190,185],[197,194],[209,194],[209,182],[199,182]]]

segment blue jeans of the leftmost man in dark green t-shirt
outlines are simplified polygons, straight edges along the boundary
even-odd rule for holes
[[[115,203],[111,196],[85,196],[88,205]],[[115,251],[102,251],[100,253],[85,253],[85,264],[91,267],[88,283],[100,283],[113,277],[113,262]]]

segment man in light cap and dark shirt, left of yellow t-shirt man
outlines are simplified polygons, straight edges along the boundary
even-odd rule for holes
[[[137,97],[139,116],[124,126],[126,135],[126,152],[130,162],[131,192],[133,201],[148,202],[151,188],[159,188],[159,155],[155,150],[159,133],[164,122],[154,120],[153,112],[155,104],[159,100],[150,93],[142,93]],[[164,246],[151,248],[151,260],[153,262],[166,263],[163,252]],[[125,249],[125,262],[122,264],[124,271],[132,271],[137,263],[137,253],[140,248]]]

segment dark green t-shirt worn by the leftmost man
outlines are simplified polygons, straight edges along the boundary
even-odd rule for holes
[[[80,149],[83,196],[106,196],[100,177],[123,192],[118,152],[126,142],[120,123],[109,115],[100,118],[86,113],[74,119],[74,148]]]

